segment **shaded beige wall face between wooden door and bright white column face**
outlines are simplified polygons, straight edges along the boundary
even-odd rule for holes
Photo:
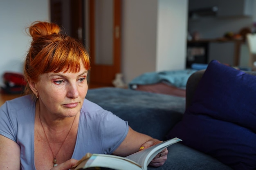
[[[156,70],[157,0],[124,0],[122,4],[124,81]]]

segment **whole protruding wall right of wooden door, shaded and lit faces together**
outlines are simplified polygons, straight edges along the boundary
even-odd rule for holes
[[[124,0],[122,73],[184,69],[188,0]]]

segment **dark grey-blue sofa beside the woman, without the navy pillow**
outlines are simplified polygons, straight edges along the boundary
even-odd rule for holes
[[[186,85],[186,98],[121,88],[90,89],[86,96],[92,102],[128,121],[136,131],[160,140],[182,119],[191,104],[195,88],[204,71],[193,73]],[[231,170],[217,159],[177,143],[168,147],[164,166],[148,170]]]

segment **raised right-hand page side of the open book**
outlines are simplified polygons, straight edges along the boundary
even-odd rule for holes
[[[126,158],[137,162],[139,165],[142,166],[143,170],[147,170],[148,164],[150,163],[150,161],[152,161],[152,159],[154,159],[154,157],[157,154],[159,154],[162,150],[164,150],[164,148],[171,146],[172,144],[175,144],[179,141],[182,141],[182,140],[177,137],[173,139],[169,139],[160,144],[151,146],[150,148],[146,148],[132,155],[129,155]]]

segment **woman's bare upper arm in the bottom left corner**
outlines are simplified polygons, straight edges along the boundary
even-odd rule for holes
[[[0,135],[0,170],[20,170],[20,146]]]

